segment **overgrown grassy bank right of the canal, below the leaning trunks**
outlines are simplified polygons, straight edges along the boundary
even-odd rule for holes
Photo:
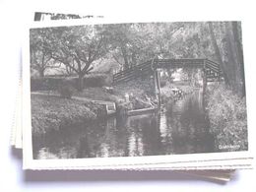
[[[211,132],[222,151],[247,150],[247,116],[245,98],[240,98],[224,85],[212,87],[207,94]]]

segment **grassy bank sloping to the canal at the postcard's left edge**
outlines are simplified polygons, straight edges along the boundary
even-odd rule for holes
[[[39,135],[75,123],[94,120],[100,116],[101,106],[92,102],[32,95],[32,133]]]

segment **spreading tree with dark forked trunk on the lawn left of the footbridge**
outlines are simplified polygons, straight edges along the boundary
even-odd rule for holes
[[[84,88],[84,77],[93,63],[107,53],[107,37],[102,26],[62,27],[54,30],[52,58],[72,69]]]

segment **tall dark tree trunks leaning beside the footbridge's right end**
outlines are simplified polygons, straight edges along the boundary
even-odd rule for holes
[[[209,23],[209,31],[216,56],[224,72],[225,83],[239,96],[245,96],[240,23],[217,23],[215,32],[213,23]]]

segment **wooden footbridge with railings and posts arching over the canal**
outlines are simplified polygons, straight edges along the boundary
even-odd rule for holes
[[[129,82],[136,78],[154,75],[156,96],[160,105],[160,74],[159,69],[199,68],[203,72],[203,93],[207,83],[224,80],[219,63],[210,59],[158,59],[154,58],[132,68],[120,71],[113,75],[113,84]]]

